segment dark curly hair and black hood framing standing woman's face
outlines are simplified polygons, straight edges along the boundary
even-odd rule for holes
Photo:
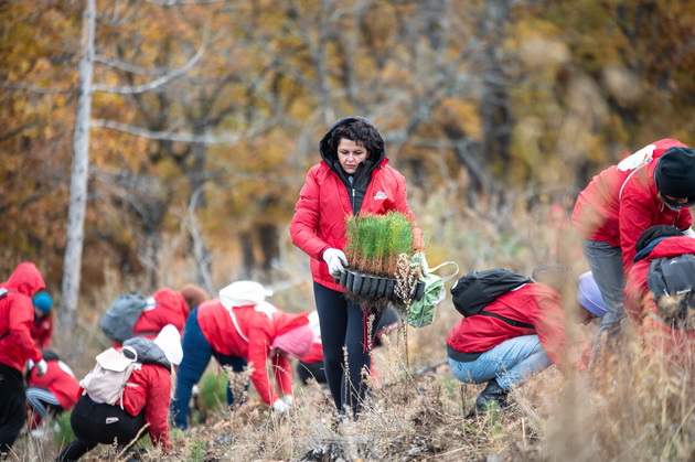
[[[323,154],[336,159],[338,146],[343,138],[360,142],[370,157],[382,158],[386,152],[382,133],[363,117],[345,117],[333,123],[321,139],[320,148]]]

